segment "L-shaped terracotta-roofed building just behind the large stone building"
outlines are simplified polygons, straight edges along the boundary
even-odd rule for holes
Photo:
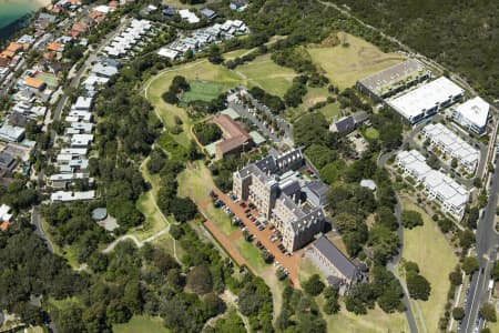
[[[247,131],[226,114],[218,114],[213,122],[222,130],[224,140],[215,145],[215,159],[222,160],[226,155],[237,154],[253,148],[254,142]]]

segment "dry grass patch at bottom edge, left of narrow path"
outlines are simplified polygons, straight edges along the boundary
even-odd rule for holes
[[[317,300],[320,309],[324,305],[324,297]],[[409,332],[404,313],[386,314],[379,307],[369,310],[366,315],[356,315],[345,310],[345,304],[340,303],[342,311],[333,315],[324,315],[327,322],[327,332],[348,333],[387,333],[387,332]],[[434,332],[434,331],[428,331]]]

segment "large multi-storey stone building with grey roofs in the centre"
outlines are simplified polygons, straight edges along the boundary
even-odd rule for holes
[[[305,246],[324,229],[322,205],[304,200],[302,184],[293,171],[305,164],[299,149],[268,155],[234,172],[233,191],[254,203],[283,235],[283,245],[293,252]]]

